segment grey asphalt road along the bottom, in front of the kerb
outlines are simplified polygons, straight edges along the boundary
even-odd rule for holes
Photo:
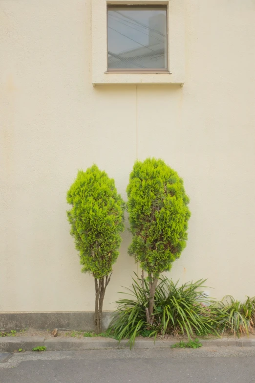
[[[255,383],[255,347],[26,352],[0,362],[0,383]]]

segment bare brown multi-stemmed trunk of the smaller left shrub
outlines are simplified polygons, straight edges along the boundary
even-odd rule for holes
[[[105,278],[95,278],[95,291],[96,291],[96,302],[95,302],[95,332],[96,334],[102,333],[102,314],[103,314],[103,302],[106,293],[106,287],[110,282],[110,275]]]

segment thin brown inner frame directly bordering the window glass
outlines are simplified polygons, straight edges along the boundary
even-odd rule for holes
[[[121,2],[121,3],[113,3],[110,2],[106,4],[106,53],[107,53],[107,70],[106,73],[169,73],[169,3],[166,4],[160,4],[160,3],[150,3],[149,1],[147,3],[139,3],[134,4],[130,2]],[[140,9],[146,9],[146,8],[162,8],[166,10],[166,29],[167,29],[167,49],[166,49],[166,59],[167,59],[167,68],[108,68],[108,10],[109,8],[140,8]]]

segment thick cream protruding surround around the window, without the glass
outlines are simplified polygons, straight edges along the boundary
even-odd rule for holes
[[[168,5],[168,72],[107,71],[107,4]],[[88,60],[93,87],[153,84],[182,87],[185,83],[185,0],[93,0],[91,1],[91,38],[91,56],[88,54]]]

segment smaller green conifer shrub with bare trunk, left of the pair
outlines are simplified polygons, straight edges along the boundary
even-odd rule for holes
[[[100,334],[103,300],[124,230],[125,203],[114,180],[96,165],[78,172],[67,192],[67,203],[72,205],[67,217],[82,272],[92,274],[95,280],[95,331]]]

